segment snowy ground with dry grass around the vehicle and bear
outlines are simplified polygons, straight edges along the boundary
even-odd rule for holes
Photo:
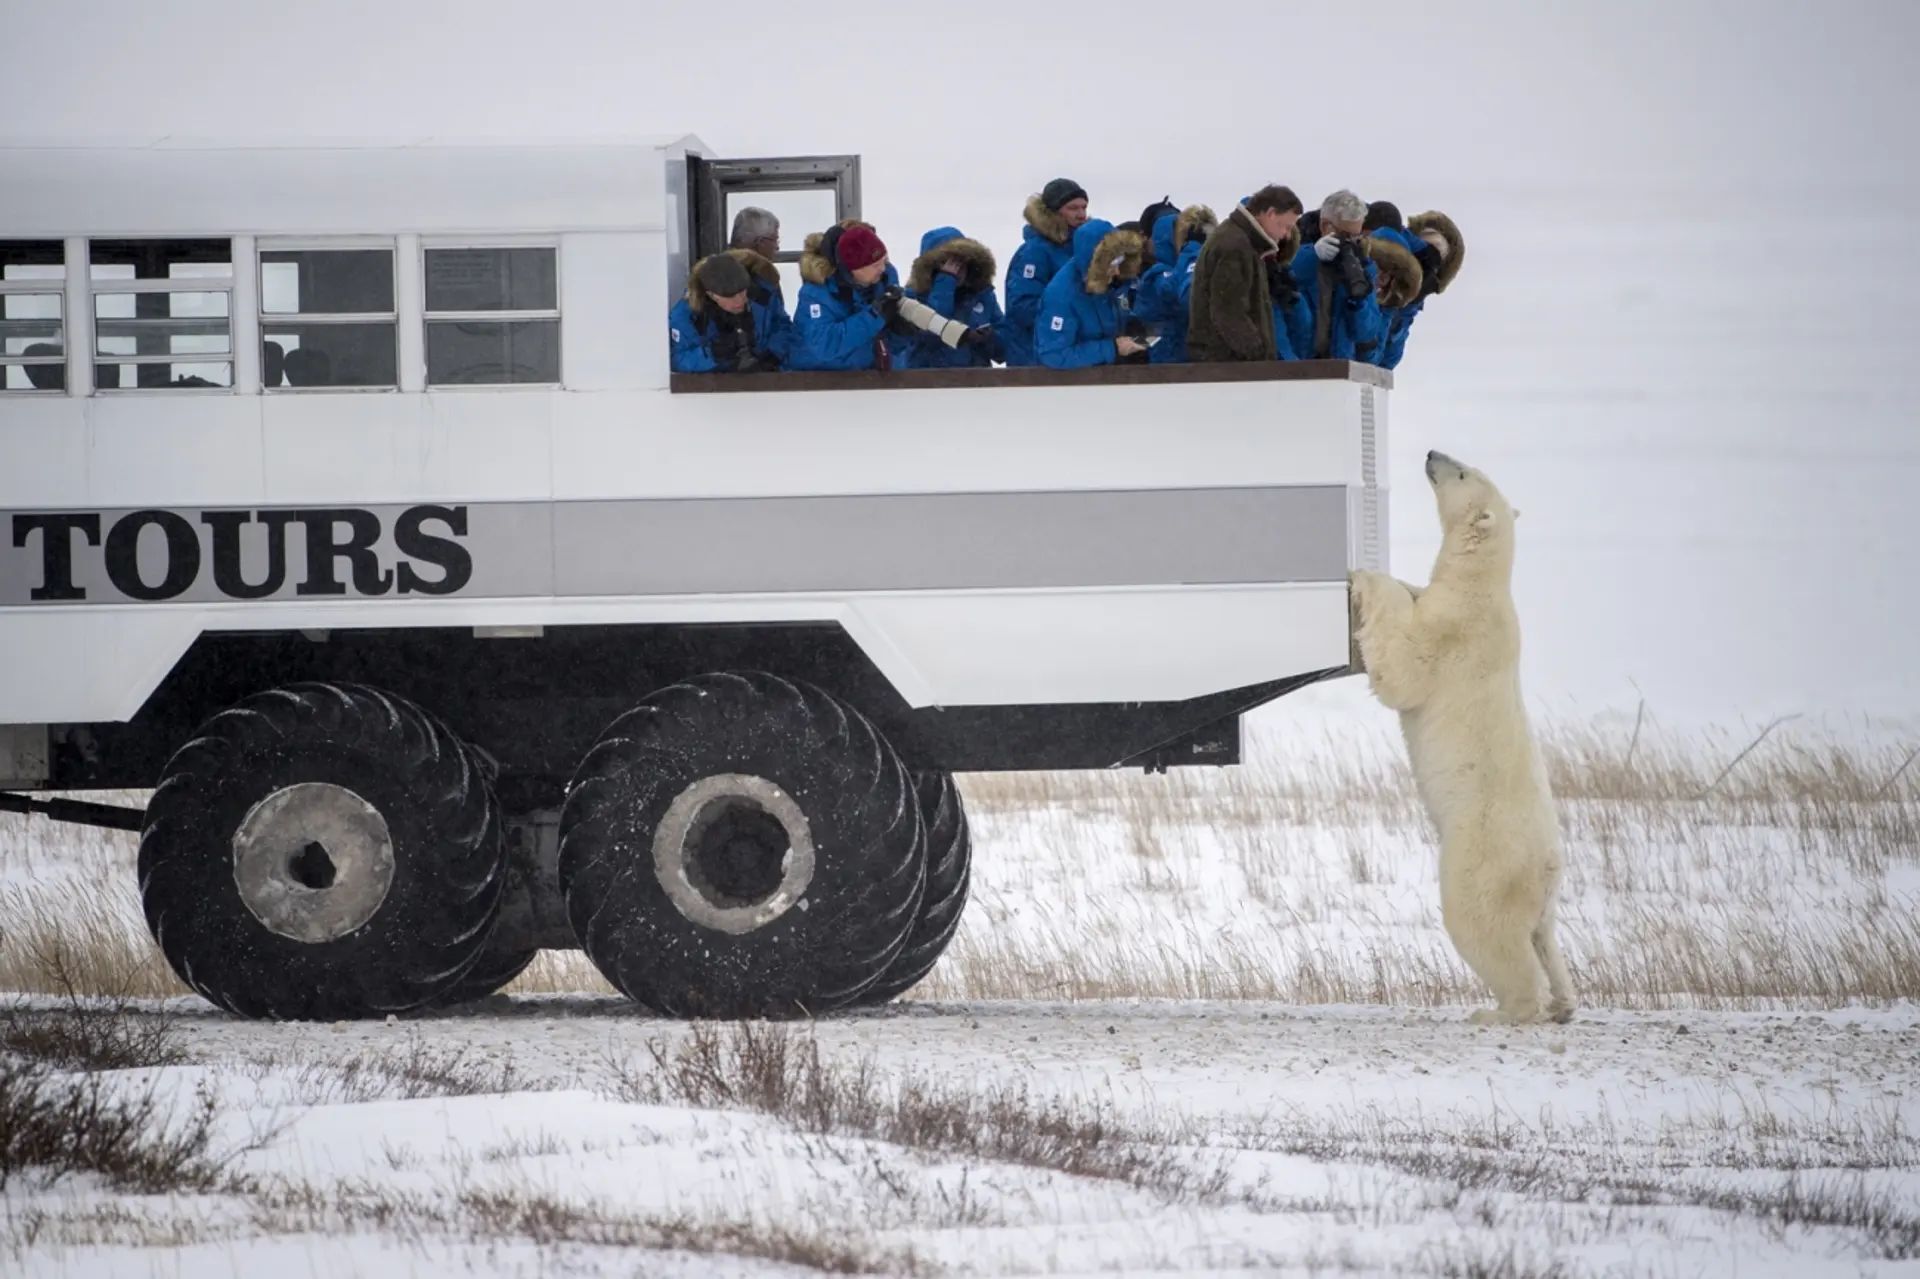
[[[576,953],[459,1014],[234,1022],[173,993],[131,837],[8,818],[6,1060],[204,1146],[15,1173],[0,1271],[1920,1267],[1910,745],[1551,726],[1582,1010],[1482,1029],[1371,728],[1275,709],[1235,772],[964,778],[929,981],[745,1031],[639,1016]]]

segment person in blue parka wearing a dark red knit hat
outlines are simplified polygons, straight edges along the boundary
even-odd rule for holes
[[[847,219],[806,236],[787,369],[893,369],[900,277],[872,227]],[[910,330],[908,330],[910,332]]]

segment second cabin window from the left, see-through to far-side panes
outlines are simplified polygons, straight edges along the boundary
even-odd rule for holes
[[[94,386],[232,386],[232,242],[92,240]]]

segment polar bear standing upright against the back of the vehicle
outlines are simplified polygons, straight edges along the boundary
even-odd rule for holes
[[[1559,820],[1521,701],[1513,520],[1494,482],[1427,455],[1444,542],[1425,590],[1354,572],[1359,663],[1400,712],[1421,803],[1440,832],[1440,918],[1498,1001],[1473,1022],[1567,1022],[1574,995],[1553,935]],[[1546,972],[1548,1002],[1540,1002]]]

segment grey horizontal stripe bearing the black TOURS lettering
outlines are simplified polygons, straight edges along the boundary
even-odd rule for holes
[[[463,503],[428,503],[463,505]],[[171,507],[198,532],[200,570],[169,603],[225,601],[215,586],[213,538],[202,515],[219,507]],[[230,507],[228,507],[230,509]],[[292,507],[273,507],[286,511]],[[376,597],[397,595],[394,526],[409,505],[355,507],[380,520],[372,543]],[[257,511],[257,509],[255,509]],[[1338,582],[1348,568],[1344,486],[1102,490],[1021,494],[889,494],[835,497],[699,497],[559,503],[465,503],[472,576],[457,597],[699,595],[893,590],[1021,590],[1233,582]],[[131,511],[100,511],[106,530]],[[44,532],[13,545],[13,513],[0,515],[0,605],[35,605]],[[426,520],[424,530],[445,536]],[[106,572],[104,545],[71,534],[73,584],[84,599],[127,603]],[[167,576],[167,540],[146,528],[136,542],[140,580]],[[265,599],[300,595],[307,536],[286,530],[286,576]],[[411,563],[417,578],[440,570]],[[240,536],[240,570],[265,580],[267,532],[253,520]],[[348,561],[336,574],[349,599]],[[428,595],[432,591],[426,591]]]

